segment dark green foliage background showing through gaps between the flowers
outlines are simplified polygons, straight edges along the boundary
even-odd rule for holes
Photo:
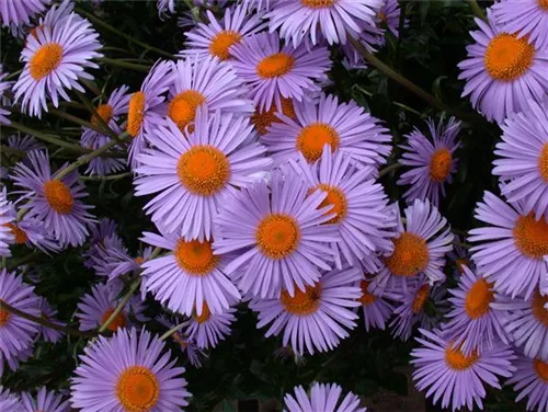
[[[480,2],[481,3],[481,2]],[[460,99],[463,83],[457,80],[457,64],[466,56],[465,46],[470,43],[469,30],[475,27],[471,9],[465,0],[400,0],[409,26],[401,31],[400,38],[388,35],[387,46],[377,55],[388,66],[420,85],[448,106],[459,110],[471,117],[464,123],[460,134],[463,147],[458,151],[458,174],[443,201],[441,210],[457,232],[465,232],[477,222],[473,207],[484,190],[496,192],[496,182],[491,176],[493,146],[500,136],[498,126],[473,116],[467,99]],[[489,5],[483,1],[482,5]],[[175,53],[183,48],[184,31],[176,25],[176,19],[161,21],[158,18],[156,1],[151,0],[104,0],[101,11],[93,10],[85,1],[78,8],[95,14],[102,21],[135,38],[161,49]],[[176,3],[179,15],[187,12],[184,2]],[[121,36],[94,24],[106,46],[104,54],[111,58],[138,59],[141,64],[152,64],[158,56],[144,52]],[[5,31],[0,31],[3,65],[8,71],[19,70],[19,54],[22,44]],[[329,92],[343,100],[354,99],[367,107],[373,115],[386,122],[393,135],[393,150],[390,163],[399,158],[397,145],[404,141],[404,135],[414,126],[424,129],[427,116],[437,118],[441,113],[425,105],[422,100],[410,94],[399,84],[375,69],[349,72],[338,62],[341,59],[333,50],[335,61],[331,72],[334,82]],[[128,60],[129,61],[129,60]],[[110,92],[121,84],[132,90],[140,87],[144,72],[103,65],[95,73],[96,87]],[[67,108],[75,115],[88,118],[84,112]],[[45,115],[42,121],[13,118],[37,129],[59,130],[58,117]],[[78,139],[79,128],[73,131],[58,131],[64,139]],[[10,130],[5,127],[0,138]],[[62,152],[58,158],[62,158]],[[68,156],[67,156],[68,157]],[[59,164],[60,165],[60,162]],[[399,199],[403,188],[396,185],[401,170],[395,170],[383,178],[383,184],[392,201]],[[95,206],[99,217],[115,219],[126,244],[135,252],[139,248],[138,238],[142,230],[151,230],[149,219],[142,213],[145,199],[133,196],[130,178],[117,181],[88,182],[88,202]],[[83,248],[85,249],[85,248]],[[82,249],[82,250],[83,250]],[[47,256],[28,255],[25,250],[15,251],[18,259],[30,260],[28,273],[36,273],[39,283],[38,295],[45,296],[58,310],[61,320],[75,323],[72,314],[79,298],[98,282],[96,276],[82,265],[82,250],[68,251]],[[447,273],[452,271],[446,268]],[[435,310],[435,308],[431,308]],[[149,314],[153,317],[159,307],[152,301]],[[238,321],[232,335],[212,351],[205,367],[189,367],[189,389],[193,393],[191,411],[210,411],[215,405],[231,411],[228,400],[276,399],[281,401],[285,391],[296,385],[312,380],[336,381],[347,390],[364,397],[373,397],[379,391],[399,396],[408,393],[410,368],[409,352],[413,342],[401,343],[391,339],[388,332],[366,333],[362,320],[359,328],[351,337],[343,341],[333,352],[305,359],[295,359],[288,352],[281,350],[281,340],[264,339],[263,331],[255,329],[256,319],[243,306],[240,307]],[[151,322],[151,330],[163,332],[159,324]],[[67,389],[71,371],[77,365],[78,354],[85,342],[68,337],[53,345],[39,343],[35,356],[22,364],[20,369],[2,378],[2,385],[15,390],[27,390],[46,385],[50,388]],[[178,351],[176,346],[172,347]],[[298,362],[296,362],[298,360]],[[522,411],[523,405],[513,402],[510,389],[504,392],[490,392],[486,401],[488,411]],[[427,407],[436,410],[433,407]]]

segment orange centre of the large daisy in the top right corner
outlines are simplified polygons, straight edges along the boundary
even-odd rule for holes
[[[486,68],[496,80],[512,81],[521,78],[533,65],[535,47],[527,37],[501,33],[494,36],[486,50]]]

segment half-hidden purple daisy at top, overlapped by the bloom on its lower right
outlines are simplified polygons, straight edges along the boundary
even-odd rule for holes
[[[180,55],[198,54],[201,57],[217,57],[228,60],[230,47],[239,44],[252,34],[265,28],[260,14],[249,15],[246,7],[237,5],[225,11],[222,21],[218,22],[215,15],[207,10],[208,24],[198,23],[197,27],[185,33],[189,38],[186,49]]]

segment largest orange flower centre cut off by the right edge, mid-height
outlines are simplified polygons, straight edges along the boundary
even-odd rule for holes
[[[533,214],[520,216],[513,230],[516,248],[526,256],[543,259],[548,254],[548,224]]]

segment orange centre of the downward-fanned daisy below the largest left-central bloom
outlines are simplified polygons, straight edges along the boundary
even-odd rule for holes
[[[209,274],[219,261],[219,256],[213,254],[212,242],[208,241],[191,240],[187,242],[180,239],[174,255],[179,267],[196,276]]]

